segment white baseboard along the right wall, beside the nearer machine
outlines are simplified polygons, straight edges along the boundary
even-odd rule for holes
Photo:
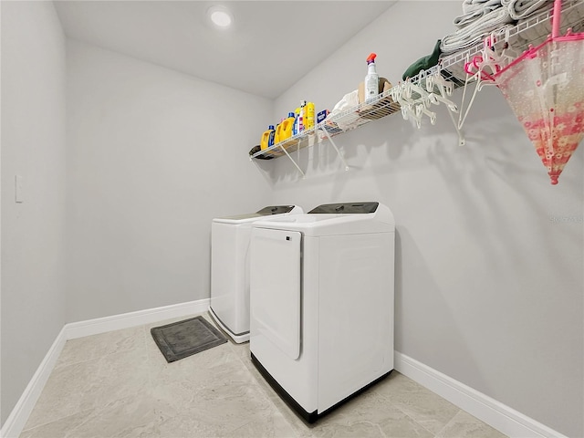
[[[567,438],[505,404],[395,351],[395,370],[513,438]]]

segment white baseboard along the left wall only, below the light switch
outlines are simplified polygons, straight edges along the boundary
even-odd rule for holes
[[[10,412],[8,418],[6,419],[2,430],[0,431],[0,437],[2,438],[17,438],[25,427],[26,420],[30,412],[33,412],[36,401],[40,396],[41,391],[47,383],[48,376],[51,375],[51,371],[55,368],[59,354],[65,346],[67,338],[65,337],[65,327],[61,328],[61,331],[57,335],[57,339],[48,349],[47,355],[40,362],[40,365],[36,369],[33,378],[26,385],[25,391],[20,396],[20,399],[16,402],[15,408]]]

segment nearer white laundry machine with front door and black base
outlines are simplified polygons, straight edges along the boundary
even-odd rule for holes
[[[307,422],[393,370],[394,236],[381,203],[252,225],[252,361]]]

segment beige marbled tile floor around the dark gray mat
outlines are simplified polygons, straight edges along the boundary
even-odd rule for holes
[[[397,371],[308,426],[255,370],[249,343],[167,363],[150,328],[168,322],[69,340],[21,438],[505,436]]]

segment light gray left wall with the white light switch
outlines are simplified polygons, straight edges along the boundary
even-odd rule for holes
[[[65,37],[50,2],[2,8],[4,423],[65,324]],[[15,175],[24,203],[15,203]]]

